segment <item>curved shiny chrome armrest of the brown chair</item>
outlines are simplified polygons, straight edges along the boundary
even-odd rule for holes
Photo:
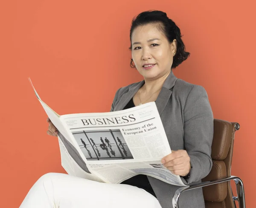
[[[224,179],[200,182],[200,183],[195,183],[190,186],[181,187],[181,188],[177,189],[177,191],[175,192],[175,194],[172,197],[172,206],[173,206],[173,208],[179,208],[178,200],[179,200],[180,194],[182,194],[185,191],[189,191],[189,190],[192,190],[195,188],[201,188],[204,186],[214,185],[214,184],[218,184],[218,183],[222,183],[222,182],[227,182],[227,181],[231,181],[231,180],[234,180],[236,183],[236,191],[237,191],[237,195],[238,195],[238,196],[233,196],[233,200],[236,200],[239,202],[239,208],[245,208],[244,184],[243,184],[242,180],[237,176],[229,176]]]

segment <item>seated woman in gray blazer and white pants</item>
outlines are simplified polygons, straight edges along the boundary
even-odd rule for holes
[[[184,183],[200,182],[212,168],[213,116],[204,88],[177,79],[172,73],[189,56],[180,29],[164,12],[142,12],[132,21],[130,40],[131,66],[144,80],[117,90],[111,111],[155,101],[171,149],[175,150],[162,163]],[[56,128],[47,121],[47,133],[57,136]],[[21,208],[172,208],[177,188],[145,175],[122,184],[104,184],[48,173],[35,183]],[[180,207],[204,208],[202,189],[186,191]]]

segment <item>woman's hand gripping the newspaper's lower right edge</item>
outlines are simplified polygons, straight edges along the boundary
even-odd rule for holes
[[[163,157],[161,162],[175,175],[185,176],[189,173],[190,157],[186,150],[172,151],[172,153]]]

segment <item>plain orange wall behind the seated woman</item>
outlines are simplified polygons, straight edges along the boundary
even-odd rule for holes
[[[247,208],[256,188],[255,1],[23,0],[0,5],[0,207],[17,208],[44,173],[63,172],[58,141],[29,84],[59,114],[109,111],[141,80],[128,50],[132,17],[165,11],[191,56],[175,75],[205,87],[215,118],[237,121],[232,174]],[[254,26],[253,26],[254,25]]]

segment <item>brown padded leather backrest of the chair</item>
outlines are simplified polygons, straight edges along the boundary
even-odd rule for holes
[[[223,179],[230,176],[234,136],[238,123],[214,119],[212,141],[212,170],[202,181]],[[230,182],[203,187],[206,208],[235,208]]]

